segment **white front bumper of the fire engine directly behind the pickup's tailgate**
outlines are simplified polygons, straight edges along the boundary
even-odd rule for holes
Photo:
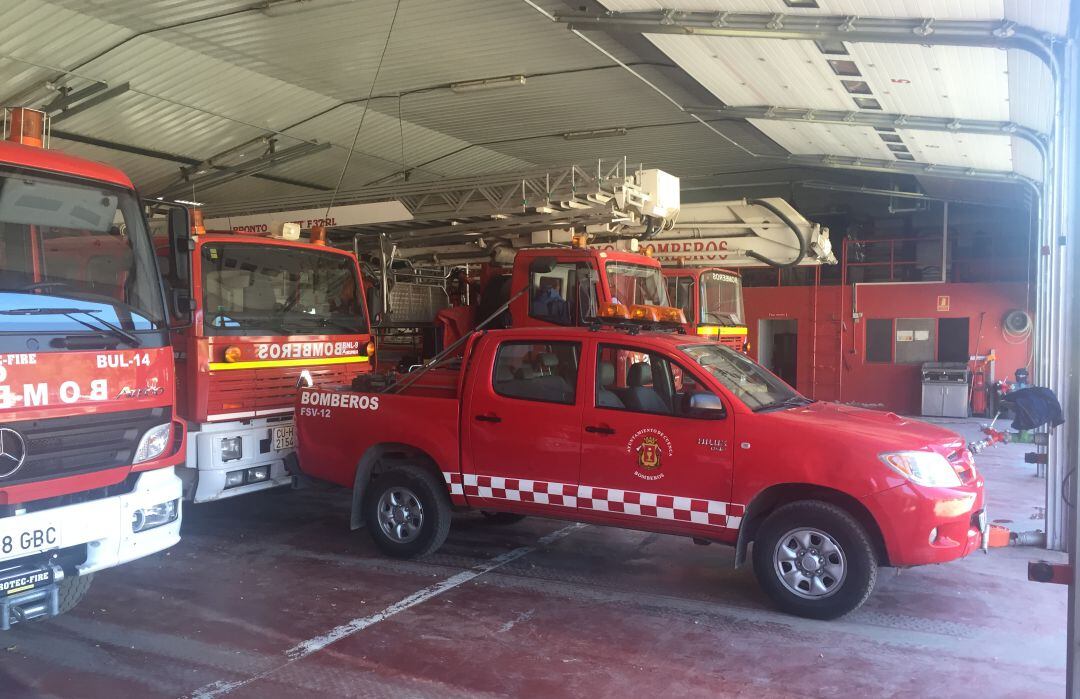
[[[189,426],[188,458],[178,469],[185,498],[210,502],[288,485],[285,457],[295,451],[294,434],[292,415]]]

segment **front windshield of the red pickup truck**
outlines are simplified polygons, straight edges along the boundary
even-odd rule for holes
[[[679,350],[755,413],[812,402],[753,360],[723,345],[684,345]]]

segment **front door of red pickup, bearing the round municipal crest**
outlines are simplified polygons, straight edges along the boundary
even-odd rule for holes
[[[742,507],[729,502],[734,418],[727,399],[687,369],[692,362],[626,339],[596,342],[586,358],[581,519],[733,540]],[[703,398],[692,407],[696,393]]]

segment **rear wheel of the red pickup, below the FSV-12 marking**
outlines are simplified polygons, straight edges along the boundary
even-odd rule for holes
[[[400,466],[377,474],[364,494],[364,523],[375,546],[395,559],[434,553],[450,532],[450,498],[430,471]]]

